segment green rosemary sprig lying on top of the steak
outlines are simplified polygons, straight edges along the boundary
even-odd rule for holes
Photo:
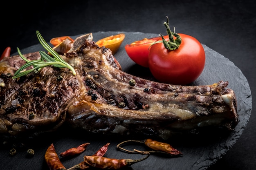
[[[60,57],[60,55],[58,55],[58,53],[56,51],[54,51],[43,39],[42,35],[39,33],[39,31],[36,31],[36,35],[37,38],[40,42],[40,44],[42,44],[42,46],[50,53],[52,54],[53,57],[49,56],[47,53],[45,53],[44,51],[39,51],[41,57],[40,60],[32,60],[29,61],[27,60],[27,58],[25,58],[22,53],[20,52],[20,49],[17,48],[18,54],[20,55],[20,57],[26,61],[26,63],[21,66],[13,75],[13,79],[16,79],[18,77],[21,77],[23,75],[28,75],[29,73],[35,71],[39,71],[41,68],[46,67],[46,66],[55,66],[55,67],[67,67],[69,68],[73,75],[76,75],[76,71],[74,70],[74,68],[72,66],[70,66],[70,64],[68,64],[67,62],[65,62],[63,60],[63,58]],[[33,66],[33,68],[29,69],[29,70],[25,70],[27,67],[29,66]],[[25,70],[25,71],[23,71]]]

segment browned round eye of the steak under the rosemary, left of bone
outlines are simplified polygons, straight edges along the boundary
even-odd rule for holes
[[[35,60],[40,54],[30,53],[25,57]],[[18,58],[5,58],[1,62],[0,75],[13,75],[16,71],[13,67],[24,64]],[[0,132],[12,135],[57,128],[65,120],[65,106],[80,90],[77,78],[68,69],[54,67],[45,67],[18,79],[1,77],[0,81],[5,84],[0,91]]]

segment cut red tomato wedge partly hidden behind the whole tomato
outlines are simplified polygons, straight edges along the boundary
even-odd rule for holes
[[[168,36],[166,36],[168,38]],[[149,47],[153,44],[159,37],[154,38],[144,38],[142,40],[138,40],[132,42],[131,44],[126,44],[125,50],[130,59],[134,61],[136,64],[139,64],[144,67],[148,67],[148,53]]]

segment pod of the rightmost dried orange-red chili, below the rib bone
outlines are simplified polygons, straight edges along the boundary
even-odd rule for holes
[[[172,155],[180,155],[181,152],[173,148],[170,144],[164,142],[154,141],[152,139],[146,139],[144,144],[153,150],[160,150]]]

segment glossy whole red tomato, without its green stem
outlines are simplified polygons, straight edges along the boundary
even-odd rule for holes
[[[179,35],[182,43],[176,50],[167,50],[163,43],[154,44],[150,48],[148,66],[159,82],[186,85],[195,81],[204,69],[205,53],[202,44],[190,35]]]

